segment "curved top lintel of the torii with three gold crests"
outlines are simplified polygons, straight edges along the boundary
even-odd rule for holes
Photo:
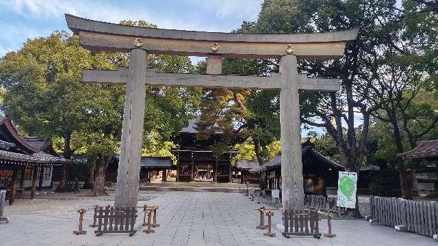
[[[358,29],[324,33],[219,33],[131,27],[66,14],[68,28],[91,51],[145,49],[166,55],[222,55],[237,58],[278,58],[293,54],[302,59],[338,59]]]

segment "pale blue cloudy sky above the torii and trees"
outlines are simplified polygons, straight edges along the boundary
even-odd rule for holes
[[[118,23],[145,20],[164,29],[230,32],[257,20],[263,0],[0,0],[0,57],[29,38],[70,31],[64,14]],[[196,63],[201,57],[191,57]],[[357,124],[360,123],[358,120]],[[321,128],[302,129],[322,133]]]

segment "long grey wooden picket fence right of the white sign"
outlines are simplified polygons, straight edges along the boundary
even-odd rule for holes
[[[387,226],[404,225],[409,232],[438,234],[437,202],[370,196],[371,217]]]

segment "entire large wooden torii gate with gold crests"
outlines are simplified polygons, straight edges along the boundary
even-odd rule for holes
[[[192,87],[280,89],[283,208],[304,208],[298,90],[333,92],[339,79],[298,74],[297,58],[329,60],[344,55],[357,29],[326,33],[213,33],[131,27],[66,14],[68,27],[90,51],[129,52],[129,68],[83,70],[86,83],[126,84],[125,111],[115,206],[137,206],[146,84]],[[207,74],[159,73],[147,68],[147,55],[207,56]],[[221,75],[222,57],[279,59],[270,77]]]

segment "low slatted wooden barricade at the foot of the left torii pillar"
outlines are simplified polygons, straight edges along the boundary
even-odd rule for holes
[[[136,207],[99,207],[96,219],[98,220],[98,228],[94,231],[96,236],[101,236],[105,233],[129,233],[129,236],[133,236],[137,232],[134,229],[137,219]]]

